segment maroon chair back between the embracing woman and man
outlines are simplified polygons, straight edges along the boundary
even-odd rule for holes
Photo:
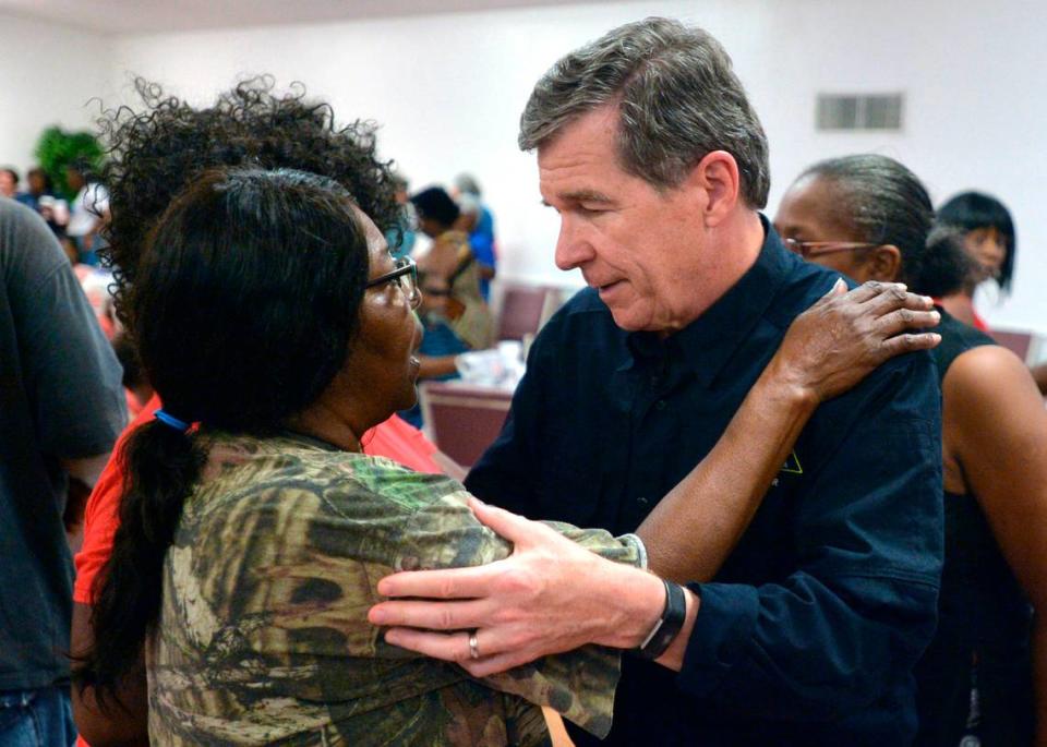
[[[502,432],[513,393],[454,381],[422,382],[419,399],[430,438],[468,468]]]

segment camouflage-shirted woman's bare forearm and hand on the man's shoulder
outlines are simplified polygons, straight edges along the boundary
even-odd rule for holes
[[[793,322],[712,451],[640,525],[653,573],[679,582],[711,579],[818,405],[889,358],[937,344],[936,335],[904,334],[937,324],[930,299],[890,284],[845,290],[838,284]]]

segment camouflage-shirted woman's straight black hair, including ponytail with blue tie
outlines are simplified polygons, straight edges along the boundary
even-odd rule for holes
[[[302,171],[208,171],[149,234],[134,282],[118,276],[146,377],[208,430],[266,436],[346,364],[370,269],[349,193]],[[279,351],[279,352],[276,352]],[[170,414],[136,429],[112,554],[98,577],[95,646],[75,676],[119,700],[157,625],[164,563],[200,480],[206,436]]]

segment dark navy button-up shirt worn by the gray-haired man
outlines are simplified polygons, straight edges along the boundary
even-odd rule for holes
[[[755,265],[664,340],[585,290],[534,341],[505,430],[466,481],[534,519],[635,531],[705,457],[790,323],[837,276],[765,221]],[[679,673],[628,659],[604,743],[903,745],[942,557],[939,390],[896,358],[815,412],[711,583]]]

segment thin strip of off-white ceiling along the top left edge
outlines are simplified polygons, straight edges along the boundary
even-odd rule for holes
[[[57,21],[96,33],[119,35],[597,1],[599,0],[0,0],[0,13]]]

